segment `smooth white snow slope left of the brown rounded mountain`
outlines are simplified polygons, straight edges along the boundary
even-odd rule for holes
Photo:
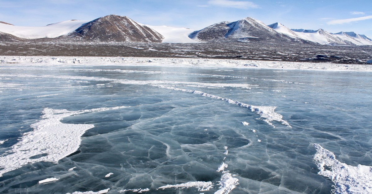
[[[73,32],[89,20],[68,20],[43,27],[13,26],[0,23],[0,32],[23,39],[55,38]]]

